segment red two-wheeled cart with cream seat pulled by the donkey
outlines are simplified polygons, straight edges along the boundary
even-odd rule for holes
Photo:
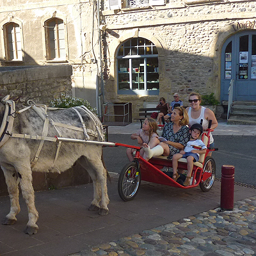
[[[115,146],[122,146],[136,149],[134,161],[128,163],[122,169],[118,179],[118,193],[124,201],[132,200],[138,193],[141,180],[173,186],[181,189],[195,188],[200,186],[202,191],[207,192],[212,188],[216,175],[216,163],[209,152],[218,150],[218,148],[209,147],[209,134],[213,130],[207,129],[202,134],[202,141],[207,146],[207,152],[200,155],[198,162],[194,163],[190,186],[182,186],[182,180],[174,181],[172,179],[172,160],[167,157],[152,157],[145,161],[140,156],[141,147],[115,143]],[[187,161],[184,158],[179,159],[178,169],[186,170]],[[185,177],[186,178],[186,177]]]

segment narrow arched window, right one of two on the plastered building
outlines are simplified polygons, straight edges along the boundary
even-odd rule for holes
[[[65,26],[61,19],[46,22],[47,60],[66,60]]]

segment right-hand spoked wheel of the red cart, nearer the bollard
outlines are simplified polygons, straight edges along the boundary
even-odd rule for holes
[[[209,177],[204,182],[200,182],[199,186],[202,191],[207,192],[212,188],[216,175],[216,163],[211,156],[207,156],[205,158],[203,174],[205,172],[211,173],[211,177]]]

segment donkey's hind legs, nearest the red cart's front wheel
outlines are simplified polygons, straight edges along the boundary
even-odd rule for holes
[[[93,206],[100,207],[100,215],[108,214],[108,188],[106,180],[106,169],[104,168],[101,160],[101,148],[95,150],[94,154],[90,157],[81,157],[79,163],[88,171],[93,180],[93,201],[89,209]],[[100,203],[101,201],[101,203]],[[99,204],[100,203],[100,204]],[[91,210],[92,211],[92,210]]]

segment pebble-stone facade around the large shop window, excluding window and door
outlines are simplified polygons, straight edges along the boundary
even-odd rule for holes
[[[107,8],[105,4],[105,8]],[[221,47],[237,33],[256,29],[256,1],[170,1],[165,6],[104,10],[106,44],[109,47],[109,79],[106,100],[132,102],[133,117],[159,97],[168,102],[173,93],[188,106],[192,91],[214,92],[220,98]],[[116,51],[128,38],[147,38],[159,54],[159,95],[118,95]],[[107,54],[107,52],[106,52]]]

